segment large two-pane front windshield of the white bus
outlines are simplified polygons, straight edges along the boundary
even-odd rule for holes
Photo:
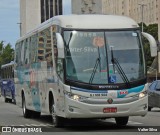
[[[66,79],[130,83],[145,78],[140,31],[64,31]]]

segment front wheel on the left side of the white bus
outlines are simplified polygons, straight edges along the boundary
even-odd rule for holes
[[[53,125],[55,127],[62,127],[63,126],[63,121],[64,119],[62,117],[59,117],[56,115],[55,112],[55,106],[52,106],[52,121],[53,121]]]

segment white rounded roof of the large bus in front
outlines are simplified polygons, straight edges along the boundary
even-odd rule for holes
[[[51,25],[59,25],[68,29],[127,29],[139,28],[138,24],[131,18],[119,15],[59,15],[55,16],[33,31],[27,33],[18,41],[29,37]],[[18,42],[17,41],[17,42]]]

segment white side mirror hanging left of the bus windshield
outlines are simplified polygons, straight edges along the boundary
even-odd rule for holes
[[[58,58],[64,58],[64,42],[60,33],[56,33]]]

